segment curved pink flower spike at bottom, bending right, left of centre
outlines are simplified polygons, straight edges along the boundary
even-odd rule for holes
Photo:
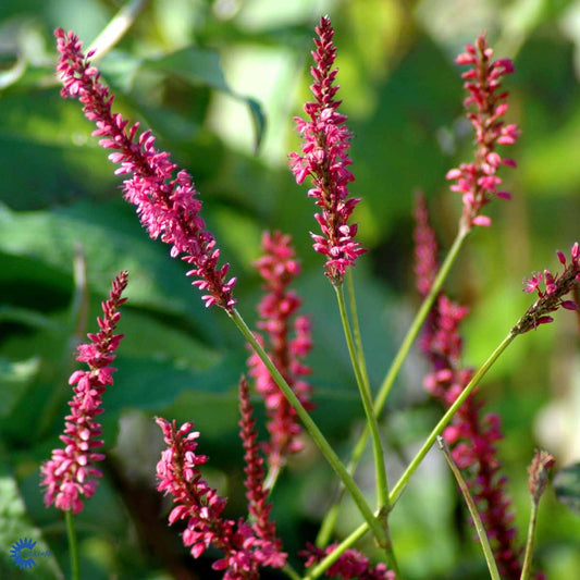
[[[279,543],[264,539],[273,528],[264,523],[263,515],[254,527],[242,519],[236,525],[224,517],[227,501],[208,485],[199,471],[208,457],[196,453],[199,432],[193,431],[194,423],[186,422],[177,429],[175,421],[156,421],[168,444],[157,464],[157,489],[173,496],[175,507],[169,522],[186,521],[182,538],[192,555],[198,558],[210,546],[221,550],[223,557],[212,568],[224,570],[224,580],[258,580],[260,566],[282,567],[286,556],[279,551]]]

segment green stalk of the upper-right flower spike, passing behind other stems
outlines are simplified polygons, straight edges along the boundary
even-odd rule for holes
[[[407,354],[409,353],[410,347],[412,343],[415,342],[415,338],[417,338],[417,335],[419,334],[419,331],[421,330],[421,326],[423,325],[423,322],[425,318],[428,317],[433,306],[433,303],[435,301],[435,298],[437,294],[440,293],[441,287],[443,286],[443,283],[445,282],[447,274],[449,273],[449,270],[452,269],[452,266],[455,263],[455,260],[457,259],[457,256],[459,255],[459,250],[461,249],[461,246],[466,237],[468,236],[468,234],[469,232],[465,232],[462,230],[459,230],[459,232],[457,233],[457,236],[447,256],[445,257],[445,261],[443,262],[443,264],[440,268],[440,271],[437,272],[437,275],[433,282],[433,286],[431,287],[430,293],[424,298],[409,330],[407,331],[407,334],[405,338],[403,340],[403,343],[398,349],[398,353],[393,359],[393,362],[391,363],[391,367],[383,380],[383,383],[381,384],[379,393],[377,397],[374,398],[375,417],[379,417],[381,415],[381,411],[383,410],[383,406],[386,402],[386,398],[388,394],[391,393],[395,379],[397,378],[398,372],[400,368],[403,367],[403,362],[405,361],[405,358],[407,357]],[[358,461],[360,460],[360,457],[362,456],[362,452],[365,451],[365,446],[367,445],[368,437],[369,437],[369,428],[365,425],[365,429],[362,430],[362,433],[360,434],[353,449],[353,453],[350,455],[350,461],[348,462],[348,466],[347,466],[348,472],[350,474],[354,474],[357,468]],[[338,491],[336,502],[326,511],[326,515],[324,516],[324,519],[322,520],[322,525],[320,527],[320,531],[317,536],[318,546],[324,546],[330,541],[330,538],[332,535],[332,530],[334,529],[334,525],[338,517],[340,503],[344,496],[344,492],[345,492],[344,488],[342,488]]]

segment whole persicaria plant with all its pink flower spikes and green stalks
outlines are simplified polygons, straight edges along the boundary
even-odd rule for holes
[[[526,281],[523,291],[535,295],[533,304],[519,320],[507,323],[507,334],[498,344],[490,337],[490,356],[479,367],[467,365],[464,357],[461,324],[469,317],[469,308],[444,287],[468,238],[490,235],[493,230],[486,213],[489,206],[506,203],[511,197],[503,186],[507,172],[516,168],[509,151],[520,136],[520,128],[508,119],[506,84],[515,73],[511,61],[495,59],[483,33],[457,57],[466,89],[465,114],[473,132],[472,157],[446,175],[454,193],[449,196],[460,213],[457,234],[448,249],[440,247],[428,201],[422,195],[416,196],[415,231],[409,232],[415,242],[415,267],[409,267],[409,271],[415,271],[418,299],[422,303],[398,353],[392,361],[385,360],[384,380],[373,384],[354,291],[357,266],[366,259],[367,251],[355,215],[362,199],[357,195],[363,194],[356,193],[356,166],[349,155],[355,136],[341,110],[335,62],[340,47],[335,45],[330,17],[322,16],[314,28],[312,98],[304,106],[304,116],[295,119],[301,145],[289,153],[289,171],[297,188],[314,203],[310,236],[313,250],[321,257],[321,284],[326,286],[329,299],[336,299],[358,386],[356,405],[360,405],[366,420],[351,448],[341,448],[338,453],[314,419],[312,384],[317,369],[308,357],[316,347],[311,334],[316,312],[306,311],[296,289],[300,260],[291,236],[276,230],[263,233],[262,255],[255,262],[263,292],[257,305],[258,321],[251,328],[242,311],[247,312],[252,305],[246,304],[247,296],[235,293],[236,277],[230,275],[219,240],[203,219],[201,196],[190,174],[159,148],[152,131],[141,131],[138,122],[128,121],[115,109],[112,90],[94,62],[98,50],[86,52],[74,32],[59,28],[54,35],[61,95],[77,99],[95,125],[92,135],[108,150],[115,174],[123,180],[125,201],[135,207],[149,237],[169,245],[170,258],[188,264],[186,275],[201,291],[205,306],[211,307],[212,316],[230,319],[247,347],[247,371],[238,380],[239,457],[244,464],[238,472],[245,485],[242,515],[231,507],[227,490],[220,489],[219,482],[208,476],[212,458],[206,454],[203,432],[196,429],[196,417],[181,424],[173,417],[155,418],[163,442],[157,469],[150,473],[159,492],[158,520],[166,518],[175,536],[181,538],[181,548],[190,554],[190,570],[196,569],[198,559],[209,557],[212,573],[229,580],[262,576],[293,580],[414,577],[408,563],[398,557],[399,539],[394,533],[392,516],[428,452],[439,443],[457,480],[465,521],[473,527],[472,535],[481,546],[481,562],[485,562],[489,576],[508,580],[542,578],[543,572],[533,560],[535,521],[540,497],[557,458],[542,451],[531,462],[532,510],[526,541],[515,527],[515,506],[499,457],[502,418],[484,407],[484,377],[516,338],[525,341],[521,335],[542,332],[542,325],[555,322],[559,316],[555,312],[560,309],[578,311],[578,242],[569,240],[571,249],[557,252],[557,270],[544,269]],[[239,272],[235,263],[232,270]],[[123,348],[122,335],[114,333],[123,325],[126,298],[122,295],[128,280],[126,271],[113,280],[97,321],[99,332],[89,334],[89,343],[78,347],[77,360],[88,368],[74,371],[70,379],[71,411],[64,418],[61,435],[64,446],[55,448],[40,468],[45,504],[65,513],[71,573],[75,579],[86,576],[78,563],[73,516],[83,511],[89,498],[99,502],[98,484],[103,472],[107,477],[107,470],[97,466],[104,465],[103,449],[110,442],[101,439],[97,417],[107,412],[107,390],[115,388],[113,371],[124,372],[122,366],[114,369],[111,363],[115,350]],[[132,284],[139,282],[131,281],[129,291]],[[506,293],[517,291],[505,288]],[[199,296],[192,294],[192,300],[197,299]],[[131,301],[126,306],[129,305]],[[440,418],[425,430],[422,445],[414,449],[412,456],[405,457],[404,469],[394,472],[385,461],[382,417],[388,417],[385,404],[414,343],[424,358],[423,386],[436,400]],[[144,396],[147,388],[143,384]],[[255,407],[260,408],[256,417]],[[365,490],[357,478],[367,442],[372,448],[374,494]],[[295,539],[288,542],[284,538],[283,520],[274,517],[284,509],[276,504],[281,502],[276,485],[286,477],[285,470],[294,458],[313,453],[313,446],[334,470],[336,485],[328,494],[318,534],[311,533],[295,550]],[[423,483],[429,485],[428,481]],[[346,497],[357,510],[358,525],[353,526],[351,518],[346,523],[342,521],[341,507]],[[239,507],[239,498],[236,504]],[[363,538],[372,542],[365,543]]]

